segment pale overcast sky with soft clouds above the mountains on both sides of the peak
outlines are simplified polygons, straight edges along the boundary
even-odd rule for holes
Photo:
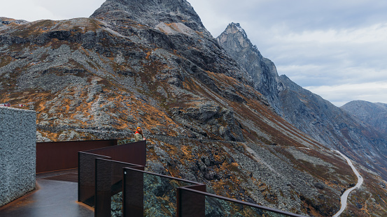
[[[239,22],[279,75],[341,106],[387,103],[387,1],[188,0],[217,37]],[[104,0],[0,2],[0,17],[89,17]]]

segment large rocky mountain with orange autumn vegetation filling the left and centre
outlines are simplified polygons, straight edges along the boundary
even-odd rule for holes
[[[256,83],[185,0],[108,0],[90,18],[0,29],[0,98],[36,110],[38,140],[126,139],[141,126],[146,170],[332,216],[356,176],[279,116]],[[367,181],[348,214],[382,216],[386,181],[358,166]]]

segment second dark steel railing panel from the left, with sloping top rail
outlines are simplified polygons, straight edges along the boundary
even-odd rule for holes
[[[143,166],[101,158],[95,159],[95,213],[97,217],[111,216],[111,197],[122,192],[122,172],[125,167],[143,170]]]

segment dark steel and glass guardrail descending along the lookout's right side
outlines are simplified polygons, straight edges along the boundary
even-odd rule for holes
[[[80,151],[78,158],[78,200],[95,207],[97,217],[302,217],[206,193],[204,184],[146,172],[145,141]]]

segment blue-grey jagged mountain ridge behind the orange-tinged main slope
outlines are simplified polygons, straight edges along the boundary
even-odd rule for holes
[[[320,96],[303,89],[286,75],[279,76],[274,63],[262,57],[239,24],[229,24],[217,40],[253,77],[255,89],[268,98],[269,104],[290,124],[325,147],[343,151],[353,160],[378,172],[384,180],[387,179],[386,133],[379,133],[370,126],[372,124],[365,124],[368,117],[363,117],[363,123]],[[383,107],[379,109],[384,110]],[[364,114],[362,110],[358,112]]]

